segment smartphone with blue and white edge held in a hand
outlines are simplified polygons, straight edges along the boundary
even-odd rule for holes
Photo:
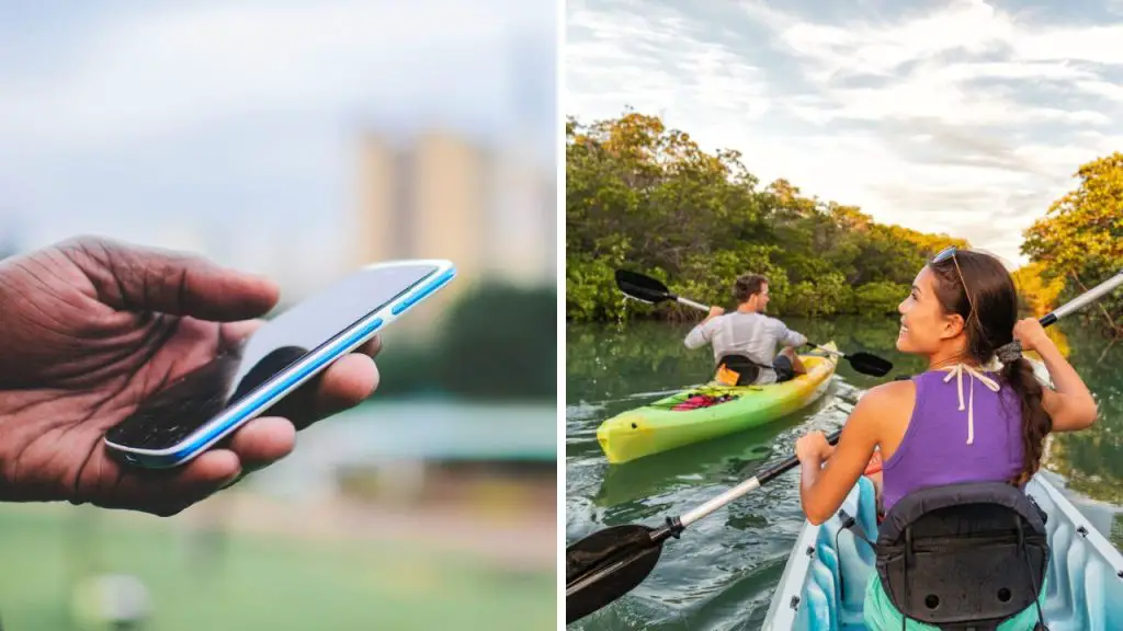
[[[448,260],[376,263],[267,321],[236,350],[167,384],[106,432],[127,465],[172,468],[290,396],[456,275]]]

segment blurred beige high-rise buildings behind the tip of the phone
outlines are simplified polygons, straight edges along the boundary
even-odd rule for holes
[[[448,258],[458,282],[411,313],[424,328],[484,280],[551,285],[557,269],[556,174],[519,145],[429,130],[404,141],[364,137],[351,266]]]

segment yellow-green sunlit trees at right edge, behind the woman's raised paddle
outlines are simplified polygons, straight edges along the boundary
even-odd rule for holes
[[[1057,302],[1075,298],[1123,269],[1123,154],[1084,164],[1079,184],[1025,230],[1022,254],[1040,264],[1041,281],[1061,283]],[[1123,336],[1123,296],[1104,296],[1081,317],[1105,333]]]

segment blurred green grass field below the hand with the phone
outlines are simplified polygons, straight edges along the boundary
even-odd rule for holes
[[[231,533],[202,556],[198,538],[193,545],[173,523],[88,507],[0,507],[0,629],[89,629],[72,614],[82,573],[140,578],[153,600],[146,631],[556,625],[553,573],[514,574],[398,541]]]

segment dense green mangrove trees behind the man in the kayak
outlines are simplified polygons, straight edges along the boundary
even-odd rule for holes
[[[758,184],[740,154],[706,153],[657,117],[626,111],[587,126],[569,118],[567,319],[699,316],[677,304],[626,303],[613,280],[620,267],[710,304],[732,307],[733,281],[755,272],[769,280],[774,314],[893,312],[931,255],[967,246],[875,223],[785,180]]]

